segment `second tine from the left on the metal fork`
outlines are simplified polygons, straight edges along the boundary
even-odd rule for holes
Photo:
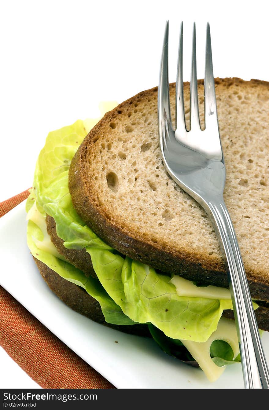
[[[184,112],[184,93],[183,93],[183,22],[180,24],[179,45],[178,45],[178,69],[176,79],[176,130],[180,136],[186,132],[186,121]]]

